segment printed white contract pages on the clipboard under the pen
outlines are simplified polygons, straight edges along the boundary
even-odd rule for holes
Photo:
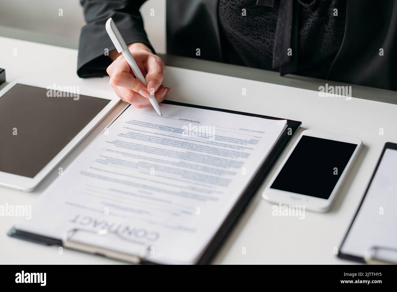
[[[145,260],[194,264],[286,129],[271,120],[175,104],[129,106],[15,228]],[[114,236],[117,235],[117,236]]]

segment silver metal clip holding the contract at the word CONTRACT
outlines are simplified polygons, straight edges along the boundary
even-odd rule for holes
[[[124,243],[141,246],[141,249],[138,253],[127,253],[116,249],[105,248],[103,246],[100,246],[99,244],[90,244],[85,242],[85,240],[73,239],[73,237],[77,237],[77,233],[79,232],[85,233],[86,238],[87,235],[93,236],[93,240],[95,240],[95,242],[98,242],[98,240],[103,241],[104,236],[114,235],[118,239],[124,240]],[[143,242],[131,240],[129,238],[124,238],[120,234],[109,231],[107,229],[96,231],[96,230],[73,228],[65,232],[64,236],[62,237],[62,245],[65,248],[75,249],[97,255],[103,255],[105,257],[118,259],[121,261],[127,261],[129,263],[134,263],[134,264],[142,263],[145,260],[145,257],[149,249],[149,247]]]

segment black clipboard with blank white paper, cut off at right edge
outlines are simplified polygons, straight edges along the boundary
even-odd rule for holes
[[[365,263],[372,249],[397,249],[397,144],[386,143],[338,257]],[[394,255],[395,256],[395,255]]]

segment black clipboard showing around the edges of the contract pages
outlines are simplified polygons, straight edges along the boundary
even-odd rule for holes
[[[188,107],[195,107],[195,108],[202,108],[205,110],[216,110],[219,112],[228,112],[231,114],[241,114],[244,116],[253,116],[257,118],[264,118],[264,119],[269,119],[269,120],[285,120],[284,118],[275,118],[275,117],[270,117],[270,116],[263,116],[260,114],[251,114],[247,112],[238,112],[234,110],[226,110],[222,108],[212,108],[208,106],[200,106],[200,105],[195,105],[195,104],[187,104],[183,102],[176,102],[176,101],[163,101],[162,103],[164,104],[173,104],[173,105],[179,105],[179,106],[188,106]],[[115,119],[116,120],[116,119]],[[293,135],[297,132],[299,127],[301,126],[302,122],[295,121],[295,120],[287,120],[287,127],[284,130],[284,132],[281,134],[279,137],[278,141],[274,145],[273,149],[270,151],[268,157],[266,160],[260,165],[258,168],[258,171],[256,174],[252,177],[251,182],[247,186],[246,190],[244,193],[240,196],[240,198],[237,200],[235,203],[234,207],[230,210],[229,215],[226,217],[218,231],[216,232],[215,236],[212,238],[212,240],[208,244],[208,248],[205,249],[205,251],[202,253],[200,259],[198,260],[197,264],[203,265],[203,264],[209,264],[211,263],[214,255],[217,253],[217,251],[221,248],[222,244],[227,238],[227,235],[231,232],[233,229],[233,226],[237,223],[239,217],[241,214],[244,212],[245,208],[247,207],[248,203],[251,201],[252,197],[262,184],[263,180],[266,178],[270,170],[272,169],[274,163],[277,161]],[[62,246],[62,240],[56,239],[56,238],[50,238],[47,236],[41,236],[38,234],[34,234],[31,232],[26,232],[23,230],[17,230],[15,228],[12,228],[8,232],[8,236],[14,237],[14,238],[19,238],[23,240],[28,240],[31,242],[39,243],[39,244],[44,244],[44,245],[57,245],[57,246]],[[150,262],[147,262],[145,260],[141,261],[140,263],[143,264],[150,264]]]

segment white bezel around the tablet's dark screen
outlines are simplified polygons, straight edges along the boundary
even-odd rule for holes
[[[6,87],[0,91],[0,99],[8,90],[15,84],[31,85],[35,87],[48,88],[54,84],[60,85],[62,82],[56,80],[46,80],[45,78],[35,79],[33,77],[20,77],[10,82]],[[65,88],[66,89],[66,88]],[[69,90],[66,92],[73,93]],[[98,97],[108,99],[110,102],[81,130],[66,146],[57,154],[50,162],[42,168],[39,173],[33,178],[19,176],[0,171],[0,186],[13,188],[23,191],[33,191],[39,183],[50,173],[54,167],[61,162],[120,102],[120,99],[115,93],[105,90],[93,89],[88,87],[79,86],[79,94],[91,97]]]

